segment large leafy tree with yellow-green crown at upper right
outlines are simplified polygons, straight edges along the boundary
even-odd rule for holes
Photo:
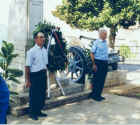
[[[140,0],[63,0],[53,15],[79,29],[108,27],[110,47],[114,48],[118,29],[140,22]]]

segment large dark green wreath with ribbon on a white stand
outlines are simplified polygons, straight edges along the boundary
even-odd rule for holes
[[[33,32],[33,35],[36,32],[43,32],[45,35],[45,47],[47,48],[49,36],[52,33],[53,29],[56,29],[54,25],[51,23],[40,22],[36,25],[36,28]],[[53,44],[50,45],[49,53],[48,53],[48,70],[50,72],[56,72],[58,70],[64,70],[67,64],[67,49],[66,49],[66,41],[62,36],[62,32],[60,29],[53,32],[52,34],[52,42]]]

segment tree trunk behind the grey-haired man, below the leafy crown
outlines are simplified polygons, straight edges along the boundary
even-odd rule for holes
[[[109,35],[109,47],[112,49],[114,49],[115,46],[116,32],[117,32],[117,27],[112,26],[110,28],[110,35]]]

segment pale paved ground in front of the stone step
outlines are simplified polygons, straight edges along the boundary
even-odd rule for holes
[[[85,100],[45,111],[47,118],[32,121],[28,116],[8,117],[9,124],[136,124],[140,123],[140,100],[105,94],[107,100]]]

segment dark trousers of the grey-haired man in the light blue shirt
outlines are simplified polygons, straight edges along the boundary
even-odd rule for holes
[[[97,71],[94,72],[92,79],[93,90],[91,95],[94,97],[100,97],[104,88],[104,83],[108,71],[108,62],[102,60],[95,60]]]

